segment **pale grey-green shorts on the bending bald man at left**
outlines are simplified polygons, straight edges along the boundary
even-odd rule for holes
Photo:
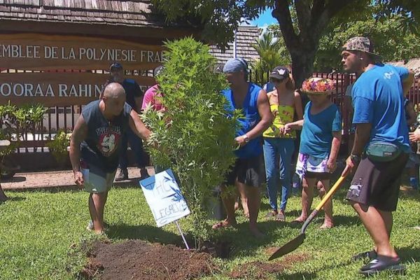
[[[80,171],[83,174],[85,181],[85,191],[87,193],[106,193],[113,185],[113,179],[116,176],[117,170],[111,173],[106,173],[99,167],[94,165],[87,165],[83,162]]]

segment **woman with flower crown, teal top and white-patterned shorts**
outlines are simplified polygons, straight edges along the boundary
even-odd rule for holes
[[[314,186],[323,197],[330,188],[330,174],[336,168],[336,160],[341,144],[342,119],[338,108],[329,98],[335,90],[333,80],[310,78],[302,84],[302,92],[309,97],[304,109],[303,120],[288,123],[284,133],[301,129],[299,156],[296,174],[302,180],[302,214],[295,222],[303,223],[314,197]],[[321,228],[332,228],[332,201],[323,207],[325,218]]]

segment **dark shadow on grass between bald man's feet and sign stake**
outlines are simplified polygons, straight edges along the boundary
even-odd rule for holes
[[[152,225],[109,225],[106,235],[111,239],[140,239],[160,244],[179,244],[181,235],[167,232]]]

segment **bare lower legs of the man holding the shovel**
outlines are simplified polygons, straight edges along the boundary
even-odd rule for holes
[[[389,242],[390,233],[388,230],[392,229],[392,213],[379,211],[372,206],[369,207],[356,202],[352,202],[351,206],[356,210],[367,232],[372,237],[378,255],[386,255],[391,258],[398,257]]]

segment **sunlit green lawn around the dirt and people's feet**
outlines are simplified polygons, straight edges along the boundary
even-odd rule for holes
[[[97,238],[85,230],[89,221],[87,193],[6,194],[11,200],[0,204],[0,279],[76,279],[77,272],[87,261],[81,250],[83,244]],[[229,260],[216,260],[222,272],[206,279],[229,279],[226,275],[237,265],[266,261],[266,248],[279,246],[297,236],[299,228],[290,225],[290,221],[300,210],[299,197],[290,197],[286,223],[264,221],[262,217],[267,209],[267,200],[263,200],[260,228],[267,235],[265,239],[257,241],[248,235],[242,216],[238,218],[238,229],[221,233],[223,239],[232,241],[232,256]],[[420,224],[419,210],[420,195],[402,193],[394,216],[392,243],[407,265],[407,274],[381,273],[371,279],[420,279],[420,232],[412,228]],[[321,218],[309,225],[307,239],[296,251],[307,255],[307,260],[296,262],[271,279],[360,278],[357,272],[363,262],[349,262],[349,259],[354,253],[369,250],[372,244],[356,214],[344,201],[344,188],[335,195],[334,214],[336,227],[332,230],[318,230]],[[105,216],[109,223],[108,237],[112,241],[181,242],[174,225],[155,227],[140,188],[111,190]],[[188,229],[186,221],[181,221],[181,225]]]

